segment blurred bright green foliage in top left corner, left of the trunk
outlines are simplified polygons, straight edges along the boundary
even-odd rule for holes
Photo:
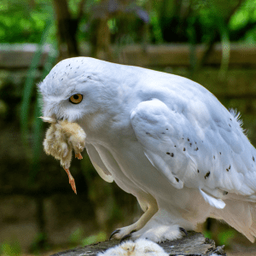
[[[50,0],[35,4],[21,0],[0,3],[0,38],[2,43],[39,43],[48,20],[54,20]],[[51,29],[51,40],[55,31]]]

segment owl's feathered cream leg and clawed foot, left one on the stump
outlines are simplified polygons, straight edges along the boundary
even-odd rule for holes
[[[139,200],[137,197],[140,205],[142,208],[145,208],[145,204]],[[123,239],[125,236],[130,236],[133,232],[136,232],[137,230],[141,230],[145,224],[148,223],[150,218],[152,218],[155,214],[155,212],[158,211],[158,206],[156,201],[151,200],[150,203],[147,203],[147,209],[143,213],[142,217],[137,220],[135,224],[131,224],[130,226],[120,228],[118,230],[114,230],[113,233],[110,235],[109,240],[113,237],[115,239]]]

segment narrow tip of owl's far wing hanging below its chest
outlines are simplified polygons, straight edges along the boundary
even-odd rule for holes
[[[110,172],[108,172],[107,167],[102,162],[102,159],[98,152],[96,151],[96,148],[94,148],[93,145],[89,143],[85,143],[85,147],[87,150],[87,153],[89,154],[90,160],[92,165],[95,167],[96,172],[108,183],[113,182],[113,177]]]

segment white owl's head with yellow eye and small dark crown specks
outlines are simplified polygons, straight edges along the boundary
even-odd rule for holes
[[[115,95],[114,86],[108,86],[115,65],[89,57],[59,62],[38,84],[44,117],[76,122],[106,108]]]

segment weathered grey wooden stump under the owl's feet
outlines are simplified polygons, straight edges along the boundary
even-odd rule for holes
[[[89,246],[55,253],[51,256],[96,256],[97,253],[102,253],[108,248],[116,245],[119,245],[119,241],[117,240],[102,241]],[[176,241],[166,241],[159,245],[160,247],[163,247],[166,253],[169,253],[170,256],[211,256],[213,253],[215,253],[215,255],[226,255],[226,253],[224,253],[224,246],[216,247],[213,240],[194,231],[189,231],[189,235],[181,239],[177,239]]]

